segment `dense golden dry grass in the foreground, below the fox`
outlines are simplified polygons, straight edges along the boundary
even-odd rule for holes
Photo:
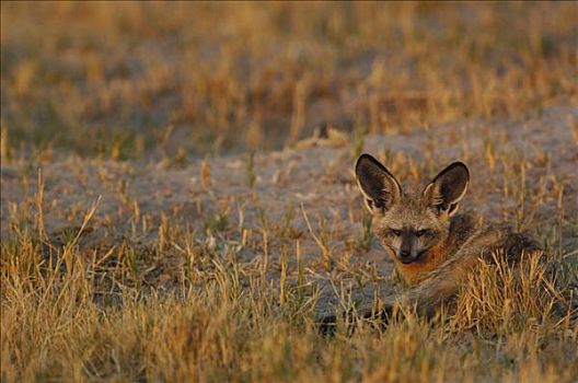
[[[385,330],[335,338],[316,332],[310,300],[281,301],[234,263],[198,289],[169,297],[127,289],[122,303],[102,306],[92,295],[94,265],[72,252],[56,271],[41,257],[27,241],[2,244],[7,382],[576,379],[578,327],[564,312],[564,286],[551,286],[534,256],[519,274],[499,262],[482,266],[447,322],[408,315]],[[243,280],[248,288],[240,290]]]

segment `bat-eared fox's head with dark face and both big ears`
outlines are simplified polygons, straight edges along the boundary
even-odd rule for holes
[[[443,246],[450,218],[455,214],[470,182],[467,167],[454,162],[442,170],[421,193],[406,194],[378,160],[362,154],[356,177],[375,235],[397,265],[426,262],[430,249]]]

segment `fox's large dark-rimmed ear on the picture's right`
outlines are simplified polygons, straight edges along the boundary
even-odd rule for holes
[[[442,170],[424,189],[426,202],[439,213],[453,216],[460,207],[470,183],[470,172],[462,162],[454,162]]]

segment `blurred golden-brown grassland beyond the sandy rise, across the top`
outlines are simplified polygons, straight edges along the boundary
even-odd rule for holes
[[[2,156],[185,160],[576,103],[576,2],[2,2]]]

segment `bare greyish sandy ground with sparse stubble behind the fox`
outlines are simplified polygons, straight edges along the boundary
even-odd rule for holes
[[[562,228],[557,248],[571,252],[578,248],[577,121],[578,107],[558,105],[523,120],[464,120],[406,135],[366,136],[362,150],[380,156],[403,184],[413,187],[425,185],[449,162],[464,161],[472,175],[465,208],[492,220],[516,220],[515,211],[527,204],[521,225],[545,237],[545,228],[556,224]],[[151,286],[177,286],[183,264],[178,246],[159,244],[163,224],[190,232],[197,245],[217,246],[222,254],[229,245],[240,246],[238,253],[245,263],[263,262],[267,254],[271,265],[278,265],[285,252],[294,265],[299,242],[308,278],[326,295],[332,294],[332,280],[344,280],[347,267],[339,267],[343,263],[374,270],[380,277],[377,283],[388,286],[392,264],[379,244],[373,240],[369,251],[352,244],[362,236],[366,216],[352,176],[356,146],[359,151],[361,142],[354,139],[321,137],[296,148],[256,154],[253,165],[248,155],[240,155],[195,160],[184,169],[63,155],[41,163],[4,161],[2,241],[14,236],[15,227],[34,230],[39,169],[49,241],[63,243],[63,233],[79,228],[100,198],[79,246],[86,254],[94,249],[104,254],[123,242],[155,249],[139,263],[149,270]],[[508,171],[510,164],[524,161],[524,174]],[[521,185],[529,192],[523,202],[516,192]],[[331,270],[320,267],[320,246],[313,232],[319,236],[325,233],[336,265]],[[220,225],[219,217],[226,217]],[[269,235],[266,245],[263,232]],[[246,244],[240,245],[243,235]],[[271,278],[277,277],[278,272],[271,271]],[[366,288],[363,293],[371,291]]]

